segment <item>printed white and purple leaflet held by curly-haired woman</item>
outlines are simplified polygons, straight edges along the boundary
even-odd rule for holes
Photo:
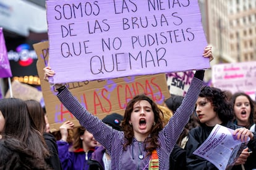
[[[216,124],[207,140],[193,153],[220,170],[230,169],[247,145],[247,142],[241,142],[237,136],[233,136],[233,132],[233,129]]]

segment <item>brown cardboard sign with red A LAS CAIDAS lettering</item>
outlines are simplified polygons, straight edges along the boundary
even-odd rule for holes
[[[49,57],[48,41],[34,44],[33,47],[38,55],[36,67],[51,131],[58,131],[59,126],[67,120],[79,126],[77,119],[59,102],[56,97],[56,89],[50,87],[49,83],[43,79],[43,68],[47,65]],[[80,103],[100,119],[114,112],[123,115],[127,102],[137,94],[145,93],[160,105],[163,104],[164,99],[170,96],[165,74],[130,76],[104,81],[83,81],[68,83],[67,86]]]

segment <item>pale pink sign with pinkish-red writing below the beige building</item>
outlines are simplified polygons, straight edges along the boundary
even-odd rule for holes
[[[222,90],[243,91],[255,100],[256,62],[241,62],[213,65],[212,83]]]

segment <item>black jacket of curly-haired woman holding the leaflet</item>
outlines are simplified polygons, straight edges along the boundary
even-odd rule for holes
[[[234,123],[227,123],[227,124],[221,124],[222,126],[229,127],[230,129],[237,129],[240,126],[237,126]],[[187,155],[187,168],[188,169],[218,169],[216,166],[210,161],[205,160],[204,158],[201,158],[200,156],[196,156],[193,154],[193,152],[203,144],[203,142],[207,139],[207,137],[210,135],[211,130],[213,127],[208,127],[205,125],[195,127],[194,129],[191,129],[189,132],[189,140],[187,141],[186,145],[186,155]],[[253,152],[256,152],[256,134],[254,133],[254,140],[250,140],[249,144],[247,145],[250,150]],[[245,166],[246,167],[246,166]],[[232,169],[242,169],[241,165],[233,166]],[[250,168],[245,168],[250,170]]]

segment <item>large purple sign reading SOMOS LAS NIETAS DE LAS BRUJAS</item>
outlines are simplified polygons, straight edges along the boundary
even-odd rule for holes
[[[209,68],[198,1],[46,1],[51,83]]]

